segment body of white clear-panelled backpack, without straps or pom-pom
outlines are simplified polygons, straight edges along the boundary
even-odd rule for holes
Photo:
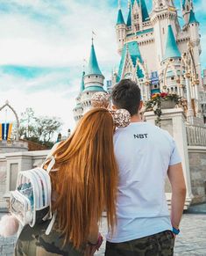
[[[49,170],[34,168],[19,172],[16,190],[11,191],[10,213],[22,226],[33,227],[51,218],[51,195]]]

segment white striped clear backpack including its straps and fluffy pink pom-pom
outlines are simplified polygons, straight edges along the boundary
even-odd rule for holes
[[[0,235],[13,236],[18,232],[19,223],[22,227],[27,224],[33,227],[36,223],[43,223],[49,219],[52,220],[46,229],[46,235],[52,230],[56,216],[56,213],[52,214],[51,211],[52,186],[49,172],[55,164],[52,152],[53,150],[41,167],[18,172],[16,190],[11,191],[11,216],[3,216],[0,221]],[[43,166],[49,160],[50,163],[44,170]]]

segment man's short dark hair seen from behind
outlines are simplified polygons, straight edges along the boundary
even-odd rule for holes
[[[112,102],[117,108],[124,108],[132,115],[139,112],[141,92],[139,85],[130,79],[123,79],[111,91]]]

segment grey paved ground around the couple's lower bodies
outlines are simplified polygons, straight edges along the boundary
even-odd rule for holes
[[[0,215],[1,216],[1,215]],[[101,232],[107,230],[106,219],[103,217]],[[0,237],[0,256],[13,255],[15,238]],[[103,256],[104,245],[96,255]],[[181,234],[176,238],[174,256],[206,256],[206,215],[184,214],[181,221]],[[28,255],[29,256],[29,255]]]

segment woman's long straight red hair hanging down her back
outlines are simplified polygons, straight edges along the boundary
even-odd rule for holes
[[[89,230],[107,210],[108,226],[116,223],[117,164],[113,150],[113,120],[108,110],[86,113],[75,133],[53,153],[58,168],[50,172],[58,225],[76,248],[87,242]]]

